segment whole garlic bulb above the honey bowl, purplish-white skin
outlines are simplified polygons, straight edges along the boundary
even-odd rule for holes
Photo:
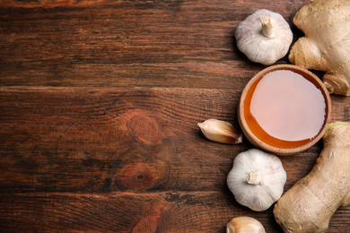
[[[240,51],[262,65],[272,65],[284,57],[293,41],[293,32],[284,17],[266,9],[240,22],[234,36]]]

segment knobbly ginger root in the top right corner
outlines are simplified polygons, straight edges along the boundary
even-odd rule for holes
[[[323,71],[329,93],[350,95],[350,1],[313,0],[296,13],[305,37],[291,48],[293,65]]]

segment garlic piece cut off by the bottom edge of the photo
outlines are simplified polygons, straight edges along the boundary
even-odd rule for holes
[[[236,217],[226,226],[226,233],[265,233],[264,226],[251,217]]]

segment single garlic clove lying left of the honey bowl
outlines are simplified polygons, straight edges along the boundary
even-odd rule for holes
[[[198,123],[199,128],[207,139],[214,142],[237,144],[242,142],[243,135],[228,122],[208,119]]]

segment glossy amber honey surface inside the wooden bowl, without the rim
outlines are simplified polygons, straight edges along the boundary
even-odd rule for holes
[[[250,131],[278,148],[310,142],[325,124],[326,101],[319,88],[300,73],[265,74],[250,88],[244,106]]]

